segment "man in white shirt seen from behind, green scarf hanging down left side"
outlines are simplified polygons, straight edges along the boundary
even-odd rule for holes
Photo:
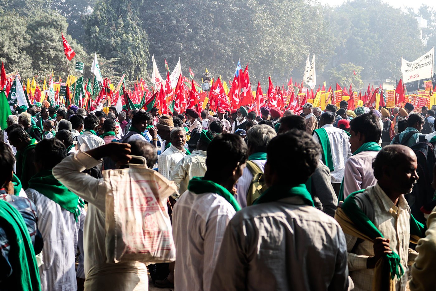
[[[320,118],[320,129],[315,130],[313,139],[320,143],[321,149],[330,148],[330,152],[322,152],[323,162],[329,167],[331,173],[331,184],[336,194],[339,194],[342,178],[344,178],[345,162],[351,156],[350,143],[348,135],[341,128],[333,126],[336,114],[333,112],[324,112]],[[326,139],[321,138],[320,134],[325,132]]]

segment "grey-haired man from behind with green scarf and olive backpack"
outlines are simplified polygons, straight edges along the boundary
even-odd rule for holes
[[[249,157],[247,166],[239,178],[236,188],[238,194],[236,200],[242,208],[249,206],[258,197],[249,193],[249,187],[253,178],[258,173],[263,173],[266,163],[266,148],[269,141],[276,136],[276,131],[269,125],[255,125],[247,131],[247,146]]]

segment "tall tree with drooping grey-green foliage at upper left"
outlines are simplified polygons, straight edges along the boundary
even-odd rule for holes
[[[146,32],[138,17],[141,0],[108,0],[97,3],[85,18],[90,52],[97,51],[116,62],[128,78],[145,76],[149,57]]]

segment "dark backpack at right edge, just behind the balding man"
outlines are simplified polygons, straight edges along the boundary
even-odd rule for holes
[[[433,167],[436,163],[434,145],[429,142],[417,142],[410,148],[416,154],[418,161],[416,172],[419,179],[413,186],[412,193],[404,195],[404,197],[415,219],[425,224],[426,219],[421,211],[421,207],[433,200]]]

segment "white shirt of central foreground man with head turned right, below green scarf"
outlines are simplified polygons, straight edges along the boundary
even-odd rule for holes
[[[233,215],[235,209],[218,194],[186,191],[181,195],[173,209],[176,291],[211,288],[221,240]]]

